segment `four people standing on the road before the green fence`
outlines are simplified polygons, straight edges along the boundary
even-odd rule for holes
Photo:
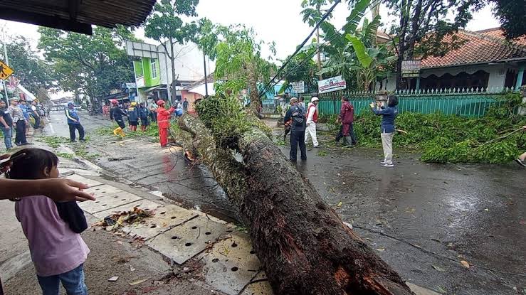
[[[283,140],[286,139],[287,134],[290,133],[290,161],[298,160],[298,146],[300,147],[301,159],[307,160],[306,144],[309,138],[312,138],[312,145],[314,147],[320,146],[317,141],[316,135],[316,123],[318,119],[318,108],[317,104],[320,99],[312,97],[307,109],[305,109],[305,102],[303,97],[293,97],[290,99],[287,111],[283,122],[285,124],[285,135]],[[394,167],[392,161],[393,158],[393,136],[395,132],[394,119],[398,115],[398,99],[395,95],[389,95],[386,102],[372,102],[371,109],[374,114],[382,116],[380,134],[382,138],[382,147],[384,149],[384,159],[380,162],[384,167]],[[338,116],[337,122],[341,124],[340,132],[338,132],[335,141],[340,142],[344,139],[345,146],[354,146],[357,144],[357,137],[354,134],[354,107],[349,102],[347,97],[342,97],[342,107],[340,108],[340,115]]]

